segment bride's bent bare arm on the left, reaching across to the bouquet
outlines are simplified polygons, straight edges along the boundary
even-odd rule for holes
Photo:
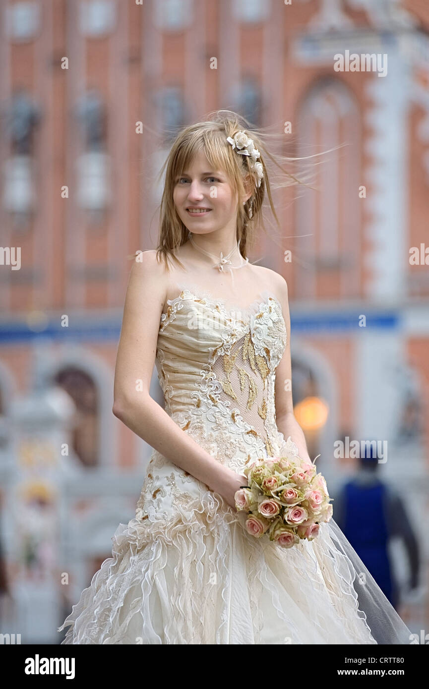
[[[113,413],[183,471],[234,506],[242,477],[208,454],[150,397],[166,271],[154,251],[143,251],[130,272],[114,372]]]

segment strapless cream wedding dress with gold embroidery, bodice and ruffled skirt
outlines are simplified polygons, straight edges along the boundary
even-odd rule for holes
[[[182,289],[157,341],[166,412],[237,473],[259,458],[297,455],[275,418],[286,325],[275,295],[260,297],[232,311]],[[292,548],[248,534],[245,521],[154,450],[135,518],[119,524],[112,557],[59,628],[68,627],[62,643],[410,643],[333,518]]]

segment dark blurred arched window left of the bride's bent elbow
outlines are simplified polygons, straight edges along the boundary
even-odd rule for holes
[[[84,466],[99,464],[99,395],[94,380],[81,369],[61,369],[54,381],[72,398],[77,421],[72,430],[72,446]]]

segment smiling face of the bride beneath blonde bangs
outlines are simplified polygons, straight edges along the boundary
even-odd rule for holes
[[[212,169],[205,154],[195,156],[188,169],[174,180],[173,200],[190,232],[207,234],[228,226],[235,231],[237,198],[233,197],[226,174]]]

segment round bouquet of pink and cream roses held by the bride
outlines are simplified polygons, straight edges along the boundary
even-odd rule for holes
[[[248,486],[235,493],[235,506],[248,513],[246,530],[252,536],[268,532],[270,541],[290,548],[300,539],[312,541],[319,524],[332,517],[332,498],[315,464],[274,457],[254,462],[243,473]]]

